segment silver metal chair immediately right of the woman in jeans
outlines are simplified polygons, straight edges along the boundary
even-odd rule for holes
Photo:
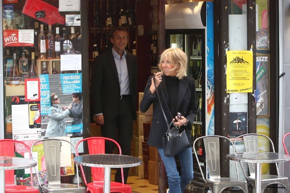
[[[208,166],[209,178],[205,178],[203,175],[203,171],[200,166],[200,162],[196,153],[195,148],[193,148],[198,166],[204,180],[203,192],[207,192],[207,189],[210,188],[212,193],[221,193],[223,190],[231,187],[238,187],[243,190],[244,193],[248,193],[247,181],[240,180],[238,176],[237,163],[235,162],[236,169],[236,179],[235,178],[222,178],[221,177],[221,165],[220,165],[220,139],[223,141],[228,141],[229,147],[233,148],[233,152],[235,152],[235,147],[232,141],[224,136],[202,136],[197,138],[193,142],[193,147],[195,147],[195,143],[198,140],[203,140],[205,153],[206,153],[206,163]]]

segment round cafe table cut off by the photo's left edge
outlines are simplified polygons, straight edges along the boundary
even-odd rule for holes
[[[36,166],[36,161],[23,157],[0,156],[0,193],[5,193],[5,170],[19,170]]]

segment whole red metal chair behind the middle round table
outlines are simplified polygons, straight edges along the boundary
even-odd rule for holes
[[[78,145],[86,141],[88,143],[89,154],[104,154],[105,153],[105,141],[111,141],[116,144],[121,155],[120,145],[110,138],[103,137],[91,137],[80,140],[76,144],[76,155],[78,155]],[[80,169],[83,175],[84,183],[87,187],[87,193],[103,193],[104,189],[104,168],[91,167],[93,182],[87,183],[84,174],[83,167],[80,165]],[[132,193],[131,186],[124,184],[123,169],[121,169],[122,183],[111,182],[111,193]]]

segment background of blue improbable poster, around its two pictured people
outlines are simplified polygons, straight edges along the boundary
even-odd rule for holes
[[[51,95],[55,93],[59,98],[59,106],[65,110],[74,96],[82,95],[82,74],[49,74],[40,75],[41,90],[41,135],[45,136],[49,116],[51,113]],[[81,137],[83,133],[82,124],[82,100],[78,105],[72,107],[71,113],[65,119],[65,133],[67,136]],[[79,114],[77,114],[79,112]]]

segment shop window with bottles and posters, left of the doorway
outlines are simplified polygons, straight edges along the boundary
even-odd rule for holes
[[[0,4],[0,139],[31,144],[44,138],[53,117],[51,95],[56,93],[63,111],[71,102],[81,108],[78,120],[83,121],[76,123],[70,111],[63,117],[65,127],[61,126],[63,137],[76,144],[89,135],[89,120],[83,119],[89,112],[82,111],[89,105],[88,39],[81,36],[88,32],[88,0],[1,0]],[[74,101],[76,96],[81,100]],[[64,169],[62,174],[73,172]]]

